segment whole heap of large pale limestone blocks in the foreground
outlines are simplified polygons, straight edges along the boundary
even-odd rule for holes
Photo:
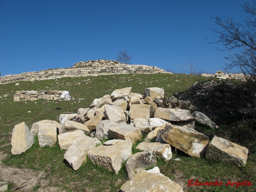
[[[190,101],[163,98],[163,94],[164,90],[160,88],[148,88],[143,97],[127,87],[93,100],[90,108],[79,108],[77,114],[60,114],[60,124],[42,120],[34,123],[30,131],[23,122],[13,129],[12,154],[25,152],[34,143],[34,135],[38,134],[40,146],[53,146],[58,137],[60,149],[67,150],[64,158],[74,170],[79,169],[88,155],[93,164],[118,174],[122,163],[128,159],[125,170],[131,180],[121,191],[141,191],[141,187],[148,191],[159,187],[160,191],[183,191],[157,168],[141,171],[156,165],[155,156],[171,160],[171,146],[193,157],[224,160],[237,166],[246,164],[247,148],[216,136],[209,143],[209,137],[194,130],[195,124],[217,128],[216,124],[198,111],[190,114]],[[165,108],[159,107],[161,105]],[[148,133],[136,147],[143,152],[132,155],[132,144],[141,140],[141,133]],[[21,134],[25,140],[21,140]],[[99,140],[103,139],[108,141],[101,144]],[[149,186],[153,189],[148,189]]]

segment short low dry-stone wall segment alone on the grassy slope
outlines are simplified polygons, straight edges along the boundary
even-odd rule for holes
[[[16,91],[13,101],[59,100],[62,91]]]

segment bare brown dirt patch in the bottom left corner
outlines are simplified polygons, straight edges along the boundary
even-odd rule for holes
[[[60,188],[48,186],[45,172],[3,165],[1,161],[7,156],[7,154],[0,152],[0,180],[13,183],[12,190],[32,191],[33,188],[38,188],[38,191],[42,192],[63,191]]]

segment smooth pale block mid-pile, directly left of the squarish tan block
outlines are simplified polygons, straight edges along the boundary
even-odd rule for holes
[[[126,122],[124,111],[117,105],[105,106],[105,118],[116,123]]]

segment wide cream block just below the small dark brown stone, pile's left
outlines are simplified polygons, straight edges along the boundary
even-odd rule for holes
[[[76,131],[76,130],[83,130],[84,134],[87,134],[87,135],[90,133],[90,130],[86,125],[78,123],[76,121],[70,121],[70,120],[66,120],[62,124],[62,129],[59,132],[65,133],[65,132]]]

